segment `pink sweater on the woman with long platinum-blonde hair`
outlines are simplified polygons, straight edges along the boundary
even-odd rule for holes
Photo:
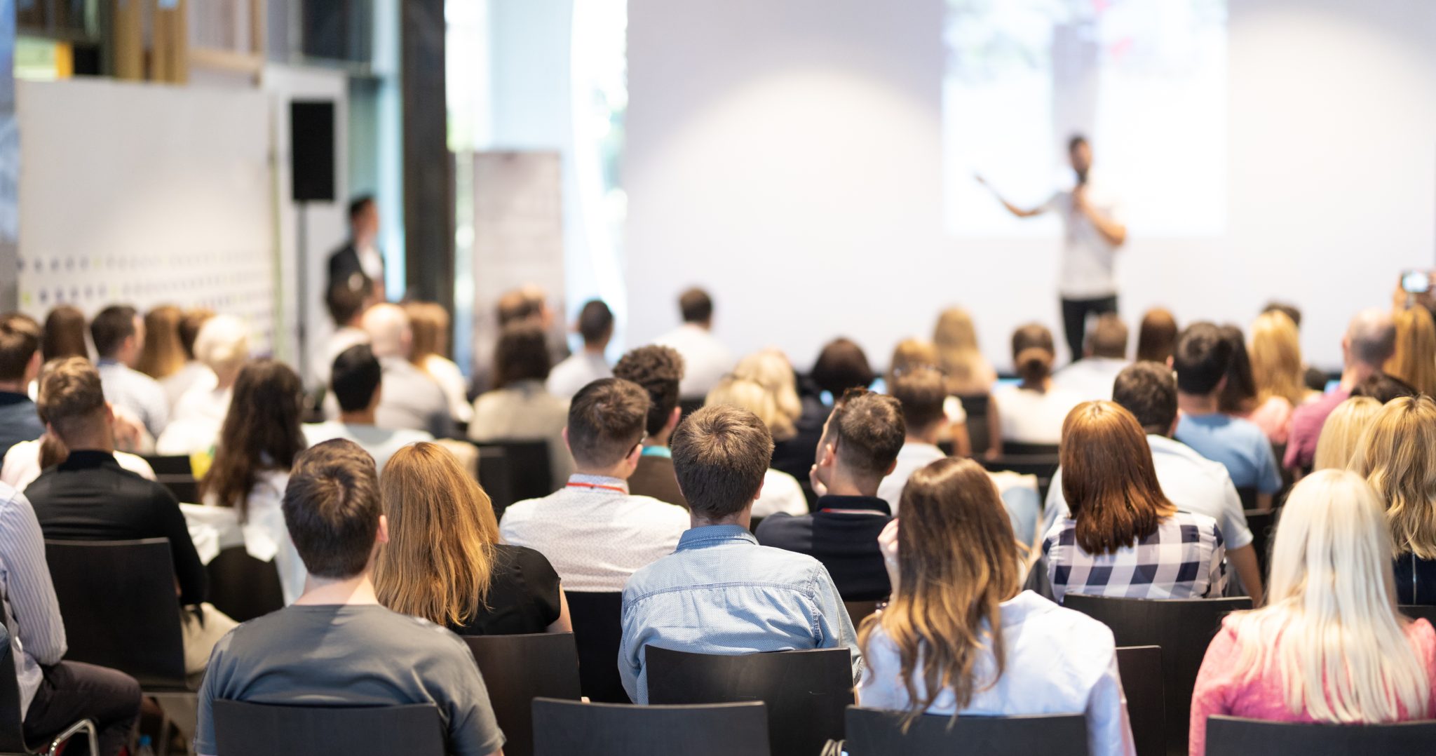
[[[1436,683],[1436,630],[1432,630],[1426,619],[1417,619],[1406,627],[1406,640],[1416,650],[1416,658],[1426,665],[1427,678]],[[1231,621],[1225,621],[1222,630],[1212,638],[1212,645],[1206,647],[1202,671],[1196,676],[1196,690],[1192,691],[1192,733],[1188,740],[1190,756],[1206,753],[1206,717],[1212,714],[1268,722],[1315,722],[1305,711],[1294,714],[1287,709],[1281,673],[1272,670],[1249,683],[1242,681],[1235,671],[1239,658],[1236,631],[1232,630]],[[1426,711],[1412,714],[1403,710],[1400,716],[1403,722],[1433,717],[1436,717],[1436,696],[1432,697]]]

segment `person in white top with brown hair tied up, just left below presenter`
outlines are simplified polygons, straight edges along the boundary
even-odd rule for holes
[[[992,394],[1002,420],[1002,441],[1057,446],[1063,420],[1081,398],[1053,385],[1053,332],[1028,323],[1012,333],[1012,365],[1022,382]]]

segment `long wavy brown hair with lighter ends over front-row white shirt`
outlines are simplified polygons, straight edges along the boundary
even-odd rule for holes
[[[943,690],[952,690],[961,711],[1002,677],[1001,604],[1021,591],[1022,576],[1012,523],[978,463],[946,457],[918,470],[900,507],[898,591],[886,609],[863,621],[857,642],[866,654],[882,627],[898,648],[910,701],[906,726]],[[995,660],[991,680],[975,673],[984,645]]]

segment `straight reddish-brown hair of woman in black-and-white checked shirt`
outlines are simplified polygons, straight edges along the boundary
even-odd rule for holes
[[[1157,483],[1142,425],[1120,404],[1074,407],[1063,421],[1061,463],[1063,497],[1087,553],[1132,546],[1176,512]]]

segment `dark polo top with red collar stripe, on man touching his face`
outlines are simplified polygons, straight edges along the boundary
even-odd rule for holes
[[[877,535],[892,520],[876,496],[823,496],[817,512],[773,515],[758,526],[758,543],[807,553],[823,562],[843,601],[879,601],[892,586],[877,549]]]

